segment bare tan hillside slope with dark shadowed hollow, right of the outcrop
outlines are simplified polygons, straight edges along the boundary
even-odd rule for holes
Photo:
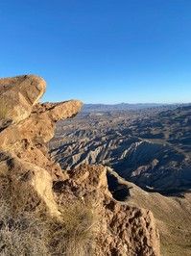
[[[118,200],[131,206],[149,209],[154,213],[159,229],[161,255],[189,256],[191,252],[191,193],[184,196],[163,196],[157,192],[145,192],[125,181],[107,167],[108,188]]]

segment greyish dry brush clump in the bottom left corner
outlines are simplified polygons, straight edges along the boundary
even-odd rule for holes
[[[46,226],[33,214],[12,218],[10,207],[0,205],[0,255],[49,256]]]

